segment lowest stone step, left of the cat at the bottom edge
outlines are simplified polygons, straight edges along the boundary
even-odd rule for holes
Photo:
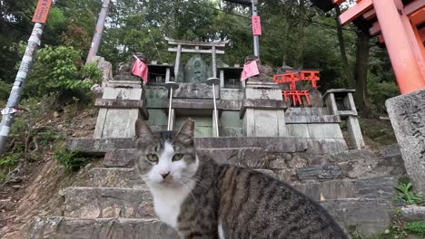
[[[35,217],[24,239],[177,239],[173,228],[154,219]]]

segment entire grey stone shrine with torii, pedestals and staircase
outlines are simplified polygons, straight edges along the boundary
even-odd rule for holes
[[[387,228],[393,186],[406,172],[397,147],[364,149],[352,91],[332,90],[322,98],[311,90],[311,106],[293,107],[283,100],[285,86],[272,81],[273,72],[261,62],[261,74],[241,82],[240,65],[219,61],[216,54],[224,53],[226,43],[167,40],[176,62],[149,63],[147,84],[129,74],[130,61],[104,84],[95,103],[100,110],[94,137],[67,143],[70,150],[104,155],[102,167],[91,169],[85,184],[64,190],[62,215],[34,218],[25,238],[177,238],[154,215],[152,196],[133,168],[134,122],[167,129],[170,81],[179,86],[173,91],[174,129],[195,120],[201,157],[285,181],[320,202],[347,230],[371,235]],[[183,53],[192,58],[183,62]],[[213,133],[213,89],[206,83],[216,76],[220,137]],[[344,139],[341,120],[347,120],[350,139]]]

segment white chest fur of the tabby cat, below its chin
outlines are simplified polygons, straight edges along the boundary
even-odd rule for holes
[[[184,200],[193,190],[194,182],[177,188],[151,188],[156,215],[166,223],[177,229],[177,219],[181,213]]]

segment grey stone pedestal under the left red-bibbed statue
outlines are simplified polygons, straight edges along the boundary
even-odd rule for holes
[[[126,76],[126,81],[110,81],[104,88],[102,99],[95,101],[99,107],[94,138],[133,138],[137,119],[148,119],[142,81]]]

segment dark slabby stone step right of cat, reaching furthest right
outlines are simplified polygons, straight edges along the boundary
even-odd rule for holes
[[[371,177],[400,177],[406,174],[402,158],[361,158],[297,168],[299,180],[364,179]]]

